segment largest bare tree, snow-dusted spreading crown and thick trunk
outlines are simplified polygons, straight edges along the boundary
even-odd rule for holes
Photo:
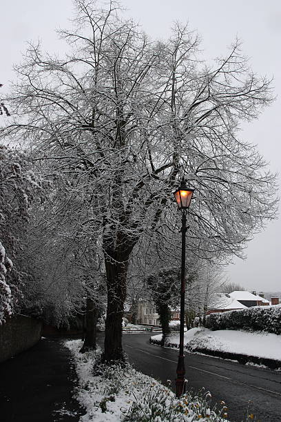
[[[123,359],[129,258],[143,236],[174,225],[171,192],[179,177],[196,189],[190,256],[241,255],[274,217],[275,179],[238,131],[272,94],[237,41],[208,66],[186,26],[156,42],[122,19],[115,1],[103,8],[97,1],[75,4],[74,27],[61,32],[70,52],[59,59],[30,45],[6,100],[14,121],[2,133],[32,143],[92,191],[107,275],[110,361]]]

